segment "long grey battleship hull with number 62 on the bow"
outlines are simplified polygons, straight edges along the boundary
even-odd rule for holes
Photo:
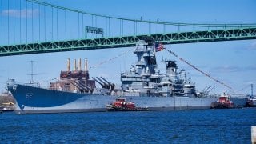
[[[106,105],[120,97],[116,95],[70,93],[19,84],[8,86],[8,90],[16,99],[15,112],[18,114],[106,111]],[[124,98],[127,101],[134,102],[136,106],[148,107],[149,110],[210,109],[211,102],[217,100],[217,98],[183,96],[126,96]],[[244,105],[246,99],[236,98],[234,102],[234,104]]]

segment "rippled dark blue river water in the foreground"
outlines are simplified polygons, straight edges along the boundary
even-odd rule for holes
[[[250,143],[256,109],[0,114],[0,143]]]

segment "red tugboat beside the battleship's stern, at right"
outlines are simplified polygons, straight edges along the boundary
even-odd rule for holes
[[[227,94],[223,94],[218,98],[217,102],[212,102],[210,105],[211,109],[230,109],[234,108],[234,103],[230,101]]]

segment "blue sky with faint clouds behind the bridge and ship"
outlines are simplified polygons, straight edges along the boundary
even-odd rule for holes
[[[133,23],[124,22],[122,32],[120,22],[114,20],[111,20],[111,24],[108,26],[105,18],[91,18],[81,14],[77,16],[78,14],[74,13],[69,15],[68,12],[66,12],[65,17],[65,12],[62,10],[58,10],[58,12],[54,10],[54,17],[52,17],[50,8],[46,7],[46,12],[44,12],[43,6],[39,7],[34,4],[32,10],[31,3],[26,7],[26,2],[21,1],[22,9],[20,10],[20,1],[15,0],[15,3],[13,3],[14,1],[10,0],[8,9],[8,1],[0,0],[0,45],[26,43],[26,41],[48,42],[51,40],[84,38],[84,26],[102,27],[106,36],[135,33]],[[143,18],[151,21],[158,19],[164,22],[210,24],[256,23],[256,1],[254,0],[48,0],[43,2],[51,2],[54,5],[94,14],[131,19]],[[32,19],[34,20],[33,25],[31,24]],[[54,21],[52,21],[53,19]],[[26,20],[28,22],[27,28]],[[19,26],[22,27],[21,30]],[[151,26],[151,29],[151,33],[161,33],[163,30],[162,26],[154,25]],[[192,28],[187,27],[181,27],[180,29],[182,31],[192,31]],[[138,34],[148,33],[147,30],[148,26],[142,24],[138,26]],[[177,27],[166,27],[166,32],[172,33],[177,32],[177,30]],[[90,35],[89,37],[98,38],[99,36]],[[256,40],[202,42],[166,45],[165,47],[197,66],[200,70],[231,86],[236,94],[250,94],[250,84],[254,84],[254,91],[256,91]],[[51,79],[59,78],[61,70],[66,70],[67,58],[70,58],[71,63],[74,58],[88,58],[89,67],[97,65],[90,69],[90,77],[102,76],[110,82],[120,84],[120,73],[130,70],[130,66],[137,59],[130,51],[132,49],[134,47],[0,57],[0,92],[5,90],[8,78],[14,78],[21,83],[30,82],[30,61],[34,61],[34,74],[36,74],[34,80],[40,82],[42,86],[47,86]],[[127,54],[98,66],[98,63],[105,62],[126,52]],[[177,61],[180,70],[185,69],[189,73],[190,78],[197,86],[197,90],[202,90],[206,86],[215,86],[214,90],[211,91],[213,94],[220,94],[227,90],[226,87],[210,78],[206,78],[203,74],[187,66],[186,63],[174,58],[166,50],[158,52],[157,57],[158,69],[161,70],[162,74],[165,73],[165,66],[161,62],[162,58],[174,59]],[[73,67],[73,64],[71,64],[71,67]]]

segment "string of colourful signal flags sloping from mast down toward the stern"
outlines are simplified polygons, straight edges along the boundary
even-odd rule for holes
[[[165,50],[167,50],[167,49],[165,49]],[[173,54],[174,57],[178,58],[180,61],[185,62],[187,65],[193,67],[195,70],[198,70],[201,74],[206,75],[206,77],[208,77],[208,78],[214,80],[215,82],[220,83],[222,86],[226,86],[226,87],[229,88],[230,90],[233,90],[232,87],[226,85],[224,82],[221,82],[221,81],[219,81],[218,79],[211,77],[210,74],[206,74],[206,73],[203,72],[202,70],[198,69],[198,67],[196,67],[196,66],[190,64],[190,62],[187,62],[185,59],[183,59],[183,58],[181,58],[181,57],[178,57],[178,55],[175,54],[173,51],[171,51],[171,50],[167,50],[167,51],[168,51],[170,54]]]

